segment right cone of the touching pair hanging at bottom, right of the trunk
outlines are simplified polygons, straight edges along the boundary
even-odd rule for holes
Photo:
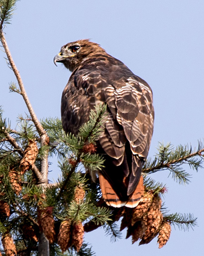
[[[84,227],[82,225],[82,222],[79,221],[78,223],[73,224],[71,242],[77,252],[79,252],[80,248],[82,247],[83,236],[84,236]]]

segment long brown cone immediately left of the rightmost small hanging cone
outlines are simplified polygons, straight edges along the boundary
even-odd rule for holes
[[[148,244],[153,238],[155,238],[155,236],[157,236],[160,223],[163,220],[163,216],[160,211],[161,204],[162,200],[159,196],[153,197],[153,202],[146,216],[146,231],[140,241],[140,245]]]

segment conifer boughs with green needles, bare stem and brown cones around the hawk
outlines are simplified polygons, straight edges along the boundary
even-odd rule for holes
[[[19,116],[18,128],[13,130],[0,109],[2,253],[15,255],[16,248],[18,255],[93,256],[95,254],[88,244],[84,242],[81,245],[83,232],[103,226],[112,240],[121,238],[117,222],[122,216],[121,230],[127,227],[127,237],[132,235],[133,242],[142,239],[140,244],[150,242],[159,233],[158,242],[162,247],[169,239],[171,225],[184,230],[193,228],[197,222],[191,213],[169,214],[164,203],[161,204],[160,195],[166,192],[166,185],[156,182],[150,174],[169,171],[179,184],[188,184],[191,174],[185,171],[185,166],[187,164],[196,171],[202,168],[203,144],[198,143],[197,150],[193,151],[188,145],[174,148],[170,143],[159,143],[155,158],[147,159],[143,168],[145,195],[140,207],[108,207],[102,199],[98,179],[95,183],[91,179],[91,176],[97,177],[97,172],[103,168],[104,159],[95,153],[95,141],[103,130],[106,106],[99,105],[91,111],[89,121],[80,128],[77,136],[65,134],[58,118],[38,120],[3,34],[16,2],[0,0],[0,39],[7,54],[7,63],[18,82],[18,86],[13,82],[10,84],[10,91],[22,95],[29,114]],[[55,184],[50,184],[48,159],[53,156],[58,158],[61,176]],[[136,211],[142,213],[142,217],[138,220],[134,217],[133,220]],[[151,215],[151,212],[157,214]],[[66,233],[63,223],[72,236],[67,238],[67,244],[66,237],[62,237],[64,240],[58,238],[60,232]],[[76,227],[81,236],[74,236]],[[151,231],[151,236],[148,236],[153,228],[154,233]],[[140,232],[143,232],[142,236],[138,235]],[[62,245],[61,249],[58,244]],[[66,250],[64,253],[62,247]]]

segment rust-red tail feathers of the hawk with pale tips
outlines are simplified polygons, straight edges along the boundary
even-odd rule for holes
[[[117,207],[117,208],[122,207],[122,206],[134,208],[139,204],[139,202],[142,198],[142,195],[144,194],[144,185],[143,185],[143,177],[142,176],[140,177],[140,181],[137,184],[137,188],[135,189],[133,194],[130,195],[129,200],[125,201],[125,202],[120,200],[118,195],[115,193],[115,191],[111,187],[109,181],[107,181],[102,176],[102,174],[99,174],[99,181],[100,181],[100,187],[101,187],[103,199],[106,202],[106,204],[109,206],[113,206],[113,207]]]

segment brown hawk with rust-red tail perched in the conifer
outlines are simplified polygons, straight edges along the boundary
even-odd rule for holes
[[[104,201],[136,207],[144,193],[142,165],[153,133],[154,109],[149,85],[124,63],[87,39],[67,43],[54,58],[72,74],[62,93],[62,125],[78,134],[97,104],[107,105],[97,152],[104,155],[99,173]]]

